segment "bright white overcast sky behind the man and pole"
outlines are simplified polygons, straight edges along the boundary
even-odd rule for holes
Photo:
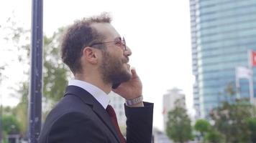
[[[170,0],[44,0],[43,31],[51,36],[61,26],[76,19],[106,11],[113,17],[112,25],[125,37],[132,49],[129,64],[134,66],[143,84],[145,101],[154,102],[154,127],[163,130],[163,94],[177,87],[186,94],[189,113],[193,113],[193,75],[189,1]],[[0,25],[9,17],[19,20],[25,28],[31,26],[31,1],[1,0]],[[1,34],[0,34],[1,35]],[[0,36],[1,37],[1,36]],[[3,43],[0,43],[3,44]],[[15,51],[14,51],[15,52]],[[1,51],[1,61],[15,61],[8,51]],[[10,91],[23,80],[24,67],[12,62],[2,71],[5,80],[0,85],[0,104],[17,104]]]

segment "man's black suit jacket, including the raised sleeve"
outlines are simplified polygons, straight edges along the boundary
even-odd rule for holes
[[[127,143],[152,140],[153,104],[127,107]],[[48,114],[39,143],[118,143],[119,137],[104,107],[86,90],[68,86],[65,96]]]

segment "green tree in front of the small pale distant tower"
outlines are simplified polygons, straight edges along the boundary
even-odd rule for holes
[[[174,142],[183,143],[193,139],[191,119],[186,112],[179,99],[175,102],[175,109],[168,112],[166,133]]]

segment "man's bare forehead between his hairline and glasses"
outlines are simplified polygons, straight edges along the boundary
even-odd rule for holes
[[[100,34],[104,35],[106,39],[116,39],[120,37],[119,33],[109,23],[96,23],[91,24]]]

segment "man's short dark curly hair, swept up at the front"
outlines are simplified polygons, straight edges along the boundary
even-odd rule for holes
[[[61,44],[61,58],[63,62],[68,65],[73,74],[81,71],[83,48],[94,42],[101,42],[104,39],[104,36],[91,27],[91,24],[110,22],[111,17],[109,14],[103,13],[99,16],[92,16],[76,21],[73,25],[68,27]],[[104,45],[99,46],[99,48],[103,47]]]

